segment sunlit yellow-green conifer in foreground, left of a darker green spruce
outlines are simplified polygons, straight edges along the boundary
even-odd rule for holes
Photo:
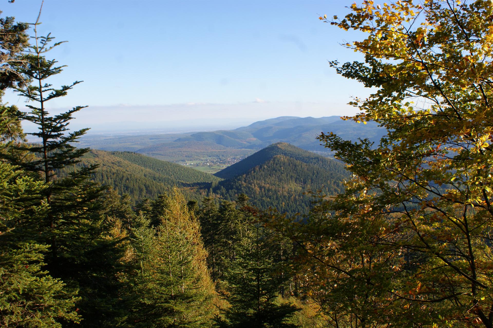
[[[174,189],[161,195],[159,225],[137,219],[132,230],[136,293],[135,327],[208,327],[214,287],[198,220]]]

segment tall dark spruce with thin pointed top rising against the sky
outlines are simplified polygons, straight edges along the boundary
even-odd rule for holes
[[[31,135],[39,143],[16,146],[16,150],[29,151],[35,157],[14,164],[31,172],[45,185],[41,197],[49,211],[36,222],[33,234],[37,243],[49,246],[44,257],[45,269],[66,283],[71,291],[78,291],[80,300],[76,305],[82,326],[114,327],[121,316],[118,304],[122,284],[118,272],[123,249],[120,241],[110,235],[113,222],[101,208],[102,192],[106,188],[89,181],[96,167],[75,166],[89,150],[74,146],[87,129],[70,131],[68,125],[72,115],[84,106],[56,115],[48,112],[49,102],[67,95],[79,81],[60,88],[46,83],[46,79],[61,73],[64,66],[57,66],[55,60],[46,59],[44,54],[63,42],[54,42],[50,34],[38,36],[39,24],[38,17],[32,24],[33,44],[23,57],[23,65],[17,68],[32,83],[16,87],[20,95],[27,98],[26,106],[31,109],[19,112],[19,118],[38,126],[38,132]],[[68,167],[73,167],[70,174],[57,176]]]

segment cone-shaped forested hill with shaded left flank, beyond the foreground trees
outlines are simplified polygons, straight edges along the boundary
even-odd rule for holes
[[[321,189],[326,195],[343,190],[348,177],[344,165],[286,143],[268,146],[246,159],[219,171],[228,178],[213,188],[215,194],[234,200],[240,193],[260,208],[275,207],[280,212],[306,213],[311,197],[308,190]]]

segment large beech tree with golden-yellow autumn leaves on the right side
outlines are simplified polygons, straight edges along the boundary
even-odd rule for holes
[[[363,62],[331,62],[375,90],[345,119],[387,135],[319,137],[353,175],[306,225],[283,228],[306,292],[334,327],[343,316],[351,327],[493,327],[493,3],[350,9],[320,17],[368,34],[345,44]]]

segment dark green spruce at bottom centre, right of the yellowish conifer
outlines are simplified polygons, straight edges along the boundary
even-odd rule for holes
[[[234,258],[225,261],[224,296],[231,306],[216,318],[216,326],[297,327],[291,319],[299,309],[279,301],[280,287],[288,281],[284,271],[289,253],[282,254],[282,242],[254,221],[243,224],[237,234]]]

